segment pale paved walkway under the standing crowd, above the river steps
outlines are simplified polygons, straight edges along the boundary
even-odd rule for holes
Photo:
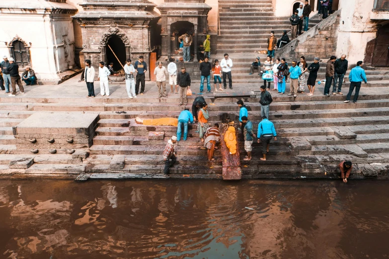
[[[28,98],[77,98],[77,99],[86,99],[87,96],[87,89],[86,89],[86,84],[84,81],[78,82],[79,76],[73,77],[62,84],[59,85],[33,85],[33,86],[25,86],[25,94],[22,95],[20,94],[19,90],[17,90],[16,97],[15,96],[8,96],[8,94],[4,94],[5,91],[0,91],[0,99],[1,102],[12,102],[12,98],[23,98],[23,99],[28,99]],[[242,92],[242,91],[258,91],[259,92],[259,87],[260,85],[263,84],[262,80],[258,80],[258,84],[243,84],[243,83],[236,83],[233,84],[233,90],[230,90],[229,87],[227,86],[227,89],[224,92]],[[223,87],[223,86],[222,86]],[[204,86],[205,91],[207,86]],[[211,85],[211,88],[213,88],[213,85]],[[273,88],[273,83],[271,85],[271,88]],[[316,85],[315,89],[315,96],[323,96],[323,88],[324,86],[321,85]],[[18,89],[18,88],[17,88]],[[99,99],[99,98],[128,98],[127,96],[127,91],[126,91],[126,86],[125,84],[118,84],[118,83],[111,83],[109,86],[110,89],[110,96],[109,97],[102,97],[100,95],[100,86],[99,86],[99,81],[94,82],[94,91],[96,94],[96,97],[94,99]],[[191,87],[192,91],[195,93],[199,92],[200,89],[200,84],[199,83],[194,83],[192,84]],[[167,98],[178,98],[178,94],[171,94],[170,93],[170,85],[166,85],[166,90],[167,90]],[[276,91],[270,91],[273,97],[286,97],[287,93],[289,90],[289,82],[287,83],[286,86],[286,94],[284,95],[279,95],[276,93]],[[331,88],[332,90],[332,88]],[[348,87],[345,87],[343,89],[344,95],[346,95],[348,92]],[[308,88],[307,88],[307,93],[308,93]],[[388,95],[389,93],[389,87],[363,87],[360,90],[360,96],[363,95]],[[192,96],[191,98],[195,98],[197,95]],[[205,97],[213,97],[213,94],[204,94]],[[304,96],[306,97],[305,94],[299,94],[298,97],[296,98],[296,101],[302,101],[301,99],[299,100],[299,96]],[[145,94],[144,95],[138,95],[139,98],[157,98],[158,97],[158,89],[156,87],[156,83],[152,81],[147,81],[146,82],[146,87],[145,87]],[[5,99],[7,98],[7,99]],[[328,97],[331,98],[331,97]],[[384,97],[385,98],[385,97]],[[8,100],[9,99],[9,100]],[[304,100],[309,100],[307,98],[304,98]],[[330,100],[330,99],[329,99]],[[28,101],[28,100],[23,100],[23,101]],[[79,100],[81,101],[81,100]],[[94,101],[96,102],[96,101]]]

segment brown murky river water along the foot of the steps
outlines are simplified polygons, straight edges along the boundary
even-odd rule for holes
[[[2,180],[0,258],[386,259],[388,185]]]

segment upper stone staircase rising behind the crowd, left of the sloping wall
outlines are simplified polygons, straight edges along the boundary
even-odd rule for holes
[[[290,29],[287,17],[274,16],[272,0],[219,0],[219,16],[219,56],[264,50],[270,31],[279,38]]]

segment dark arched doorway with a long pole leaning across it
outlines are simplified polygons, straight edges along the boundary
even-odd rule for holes
[[[120,60],[120,63],[115,58],[115,55],[112,53],[111,49],[108,47],[111,47],[113,52],[116,54],[118,59]],[[107,53],[107,65],[109,63],[113,63],[113,69],[115,71],[119,71],[120,69],[123,69],[122,65],[126,63],[126,46],[124,45],[122,39],[118,37],[117,35],[112,35],[108,41],[106,46],[106,53]]]

